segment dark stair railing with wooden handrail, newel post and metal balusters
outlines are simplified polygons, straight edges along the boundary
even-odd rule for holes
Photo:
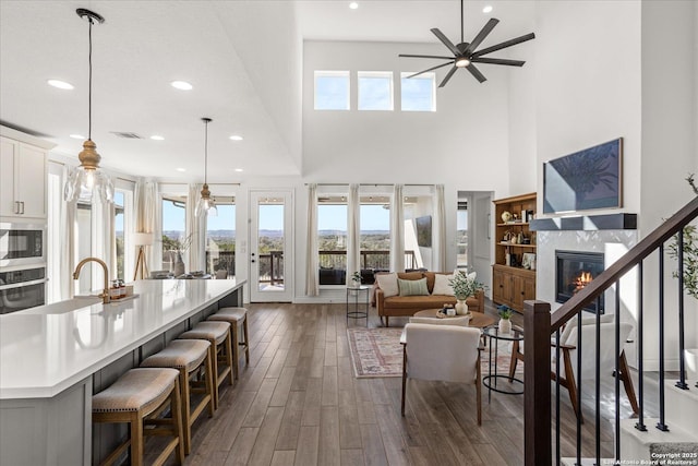
[[[557,344],[556,349],[556,368],[555,373],[559,373],[559,332],[562,326],[573,316],[577,316],[577,373],[581,372],[581,311],[594,300],[599,302],[602,294],[611,288],[616,288],[615,299],[615,349],[616,355],[621,354],[619,342],[619,285],[621,278],[630,270],[637,267],[638,271],[638,397],[639,414],[636,428],[638,430],[647,430],[645,426],[645,406],[643,406],[643,367],[642,367],[642,335],[643,335],[643,309],[642,309],[642,263],[653,252],[659,255],[659,422],[657,428],[667,430],[664,418],[664,243],[673,237],[677,237],[678,244],[683,244],[683,229],[693,219],[698,217],[698,198],[690,201],[676,214],[649,234],[637,246],[631,248],[624,256],[609,266],[603,273],[594,277],[579,292],[574,295],[559,309],[551,313],[550,303],[543,301],[526,301],[524,312],[524,335],[525,354],[524,354],[524,428],[525,428],[525,463],[526,466],[545,466],[552,465],[552,435],[551,435],[551,336],[555,334]],[[678,248],[678,357],[679,357],[679,379],[676,386],[688,390],[685,373],[685,356],[684,356],[684,289],[683,289],[683,253]],[[595,464],[601,464],[600,451],[600,380],[599,380],[599,353],[600,353],[600,312],[597,312],[597,381],[595,381]],[[615,373],[618,374],[618,365],[616,361]],[[556,395],[555,395],[555,464],[561,464],[561,439],[559,439],[559,378],[555,378]],[[581,394],[581,380],[577,381],[578,393]],[[581,403],[577,403],[577,444],[576,444],[576,464],[581,464]],[[615,464],[621,461],[621,426],[619,426],[619,377],[615,378]]]

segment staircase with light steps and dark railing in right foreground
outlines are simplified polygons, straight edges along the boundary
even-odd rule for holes
[[[693,186],[693,184],[691,184]],[[685,271],[685,264],[683,253],[678,253],[678,271],[679,278],[678,289],[672,289],[672,292],[677,292],[678,306],[675,309],[673,306],[664,306],[664,280],[663,277],[671,275],[671,270],[664,268],[664,256],[667,244],[671,244],[672,238],[678,237],[678,243],[683,243],[684,227],[698,217],[698,196],[673,215],[670,219],[665,220],[657,230],[645,237],[636,247],[628,251],[623,258],[613,263],[602,274],[597,276],[588,286],[581,291],[574,295],[567,302],[565,302],[559,309],[551,313],[551,307],[547,302],[543,301],[526,301],[524,313],[524,327],[525,333],[525,360],[524,365],[527,368],[525,371],[525,401],[524,401],[524,427],[525,427],[525,461],[526,466],[547,466],[552,464],[563,465],[615,465],[615,464],[681,464],[681,465],[698,465],[698,377],[693,372],[693,379],[686,379],[686,365],[685,365],[685,335],[693,335],[696,330],[687,328],[685,325],[684,315],[684,299],[685,292],[683,289],[683,273]],[[655,259],[655,263],[659,266],[658,276],[660,279],[655,287],[646,285],[642,278],[642,270],[646,265],[647,258],[652,255]],[[648,262],[650,263],[650,262]],[[648,265],[649,267],[650,265]],[[654,265],[652,265],[654,266]],[[673,268],[673,265],[671,266]],[[611,430],[613,435],[613,457],[609,455],[601,455],[602,435],[601,429],[595,429],[595,439],[593,442],[589,438],[589,434],[583,440],[586,451],[589,452],[590,443],[595,447],[594,457],[582,457],[582,438],[581,438],[581,408],[577,413],[577,440],[573,445],[576,447],[575,457],[562,457],[561,455],[561,440],[559,428],[557,430],[552,429],[553,420],[555,426],[559,426],[559,403],[555,402],[551,390],[551,345],[550,337],[553,336],[561,327],[569,321],[573,316],[578,318],[578,326],[581,326],[580,313],[582,309],[597,301],[600,302],[600,296],[603,292],[615,286],[616,291],[621,286],[621,278],[625,276],[629,271],[637,271],[638,280],[637,286],[639,290],[638,295],[638,315],[637,315],[637,335],[648,334],[652,336],[657,335],[659,342],[659,371],[648,372],[643,371],[643,358],[642,358],[642,338],[638,340],[638,371],[639,378],[637,386],[637,397],[639,403],[639,413],[637,418],[621,419],[621,387],[619,378],[615,378],[615,396],[605,397],[603,403],[609,405],[615,403],[615,409],[613,411],[614,419],[611,421]],[[643,289],[643,286],[649,289]],[[643,296],[657,296],[658,299],[658,313],[659,324],[653,318],[652,322],[648,323],[643,328]],[[621,353],[621,349],[625,342],[619,339],[619,298],[618,292],[615,294],[615,348],[616,354]],[[693,299],[693,298],[688,298]],[[611,308],[612,309],[612,308]],[[653,314],[652,314],[653,315]],[[672,327],[665,328],[664,322],[666,315],[675,318],[678,322],[678,328]],[[597,318],[597,328],[600,328],[600,320]],[[597,335],[600,335],[597,330]],[[670,372],[665,369],[666,358],[664,356],[665,335],[670,332],[678,332],[678,372]],[[558,334],[559,336],[559,334]],[[581,337],[581,331],[579,331],[579,337]],[[601,344],[597,337],[595,360],[600,360]],[[577,354],[581,355],[582,350],[581,338],[577,343]],[[675,343],[674,343],[675,344]],[[673,349],[673,348],[672,348]],[[593,362],[593,361],[591,361]],[[578,368],[581,368],[581,356],[574,362]],[[528,370],[533,368],[533,370]],[[597,362],[597,382],[595,393],[599,394],[599,363]],[[618,366],[615,368],[618,371]],[[559,369],[556,379],[559,380]],[[659,379],[659,380],[652,380]],[[653,383],[655,384],[655,392],[658,395],[652,395],[649,398],[645,394],[645,385]],[[588,389],[590,393],[593,393],[592,389]],[[652,405],[651,410],[645,409],[645,401],[650,402]],[[595,410],[597,416],[601,413],[601,399],[600,396],[595,396]],[[555,411],[552,406],[555,406]],[[658,409],[654,409],[658,406]],[[589,419],[585,415],[586,419]],[[606,422],[607,430],[607,422]],[[552,435],[551,435],[552,433]],[[609,442],[607,434],[603,442]],[[555,441],[555,449],[553,449],[553,441]],[[607,449],[606,449],[607,450]],[[589,456],[588,454],[585,456]]]

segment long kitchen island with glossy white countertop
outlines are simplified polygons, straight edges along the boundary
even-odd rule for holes
[[[141,280],[122,301],[0,315],[0,464],[92,464],[93,393],[219,307],[242,306],[243,284]],[[106,428],[95,449],[119,434]]]

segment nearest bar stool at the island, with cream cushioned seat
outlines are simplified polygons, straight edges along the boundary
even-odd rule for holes
[[[170,418],[158,416],[170,407]],[[113,464],[131,446],[131,464],[143,465],[145,435],[172,437],[153,463],[165,464],[174,452],[184,462],[179,372],[174,369],[131,369],[113,384],[92,397],[93,422],[128,422],[129,439],[104,461]],[[151,429],[149,426],[155,426]]]

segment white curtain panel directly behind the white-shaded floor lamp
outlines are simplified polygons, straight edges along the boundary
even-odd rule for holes
[[[151,271],[163,267],[163,226],[160,225],[160,193],[157,182],[139,180],[135,186],[135,231],[153,234],[153,244],[144,247],[146,264]],[[139,253],[133,248],[133,256]]]

